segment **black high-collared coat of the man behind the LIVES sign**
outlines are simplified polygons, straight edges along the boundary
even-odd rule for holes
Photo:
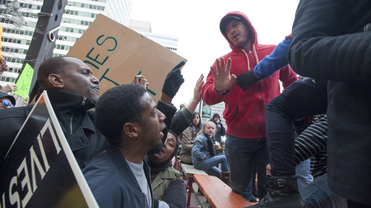
[[[45,88],[60,127],[75,155],[79,167],[84,168],[96,155],[108,148],[106,138],[95,128],[95,103],[79,94]],[[0,110],[0,161],[4,160],[14,138],[33,105]]]

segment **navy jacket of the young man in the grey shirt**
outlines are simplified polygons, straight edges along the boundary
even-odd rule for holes
[[[143,160],[143,170],[147,183],[152,190],[151,171]],[[108,150],[97,155],[82,173],[99,207],[148,207],[147,198],[142,192],[137,179],[120,150],[111,145]],[[158,207],[158,200],[153,198],[152,207]]]

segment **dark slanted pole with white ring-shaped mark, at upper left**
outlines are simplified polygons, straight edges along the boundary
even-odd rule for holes
[[[24,61],[22,66],[23,69],[28,63],[34,69],[30,87],[30,101],[39,89],[39,83],[37,83],[39,66],[46,58],[53,55],[56,36],[66,4],[67,0],[44,0],[41,11],[37,14],[39,19],[25,58],[30,61]]]

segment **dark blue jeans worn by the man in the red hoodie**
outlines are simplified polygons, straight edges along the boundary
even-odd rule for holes
[[[250,201],[253,164],[256,161],[258,195],[262,199],[268,191],[265,185],[266,165],[269,163],[266,139],[244,139],[227,134],[225,152],[230,169],[230,187],[247,201]]]

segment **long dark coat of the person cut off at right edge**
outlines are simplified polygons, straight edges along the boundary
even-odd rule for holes
[[[301,0],[289,63],[328,82],[328,186],[371,206],[371,1]]]

